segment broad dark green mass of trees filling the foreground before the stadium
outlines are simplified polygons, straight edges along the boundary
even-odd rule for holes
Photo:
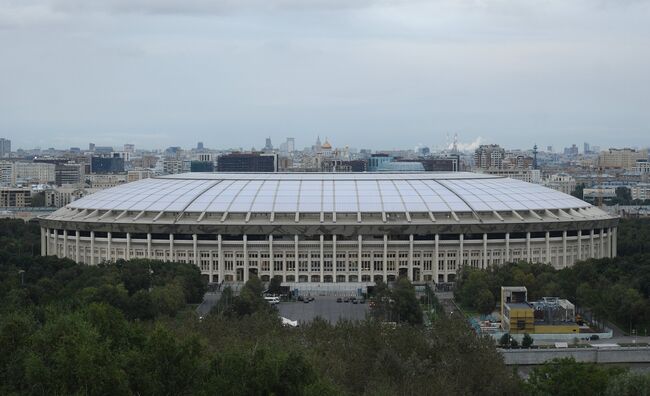
[[[256,278],[200,320],[192,304],[205,286],[193,265],[78,265],[32,256],[37,227],[0,230],[0,394],[541,395],[566,380],[522,383],[463,321],[419,325],[406,282],[378,293],[398,324],[285,328]],[[607,389],[646,383],[619,374]]]

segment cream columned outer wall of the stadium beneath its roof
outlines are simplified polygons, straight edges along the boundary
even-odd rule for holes
[[[41,229],[43,255],[96,265],[129,259],[193,263],[210,282],[251,275],[283,282],[376,282],[408,276],[453,282],[463,266],[512,261],[564,268],[616,256],[616,227],[582,230],[430,235],[220,235]]]

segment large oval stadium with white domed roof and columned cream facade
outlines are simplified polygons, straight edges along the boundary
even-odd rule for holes
[[[42,254],[194,263],[211,282],[453,282],[463,266],[616,256],[618,219],[474,173],[187,173],[97,192],[41,218]]]

